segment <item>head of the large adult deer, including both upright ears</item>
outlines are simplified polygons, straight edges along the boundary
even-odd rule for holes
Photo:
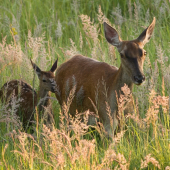
[[[117,47],[121,56],[121,67],[131,79],[131,81],[140,85],[145,81],[143,73],[143,63],[146,57],[144,45],[149,42],[155,27],[154,18],[152,23],[140,34],[140,36],[131,41],[123,41],[117,31],[104,22],[104,31],[107,41]]]

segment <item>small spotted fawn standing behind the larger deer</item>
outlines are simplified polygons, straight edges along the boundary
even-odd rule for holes
[[[18,100],[19,108],[16,110],[16,115],[22,118],[24,129],[32,125],[34,120],[34,111],[38,107],[38,115],[44,113],[45,108],[49,109],[47,122],[53,123],[53,114],[51,109],[50,96],[51,92],[55,92],[53,84],[57,68],[58,59],[55,61],[50,71],[41,71],[41,69],[30,59],[33,69],[39,78],[39,89],[36,92],[31,85],[23,80],[11,80],[6,82],[0,89],[0,99],[5,105],[11,107],[12,97],[15,96]]]

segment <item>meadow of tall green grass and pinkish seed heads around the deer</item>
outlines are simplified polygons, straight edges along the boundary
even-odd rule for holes
[[[22,79],[37,89],[30,58],[42,70],[57,57],[61,65],[76,54],[119,67],[103,22],[132,40],[153,17],[154,33],[144,48],[146,81],[134,85],[133,114],[122,116],[120,103],[121,131],[115,138],[108,139],[102,125],[89,128],[79,116],[68,120],[69,104],[61,112],[54,94],[54,128],[36,119],[34,134],[23,131],[17,103],[8,112],[0,103],[0,169],[170,169],[170,1],[0,0],[0,87]],[[70,92],[70,102],[72,97]]]

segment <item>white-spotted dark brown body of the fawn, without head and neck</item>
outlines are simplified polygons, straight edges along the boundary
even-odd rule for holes
[[[22,114],[23,124],[26,126],[28,121],[31,122],[34,120],[33,111],[37,103],[37,93],[24,81],[11,80],[5,83],[0,90],[1,102],[5,104],[9,103],[9,107],[11,107],[12,96],[16,96],[17,100],[21,99],[18,103],[19,108],[16,114],[18,116]]]

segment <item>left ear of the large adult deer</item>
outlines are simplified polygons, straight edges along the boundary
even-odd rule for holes
[[[106,22],[104,22],[104,32],[106,40],[116,46],[117,48],[120,48],[120,45],[122,43],[121,38],[119,37],[117,31],[112,28],[110,25],[108,25]]]

